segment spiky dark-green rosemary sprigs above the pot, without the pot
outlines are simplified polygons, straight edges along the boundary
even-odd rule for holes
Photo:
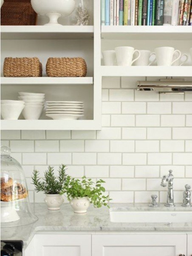
[[[62,164],[59,166],[59,177],[54,175],[54,167],[49,166],[48,170],[45,171],[43,181],[40,181],[40,172],[34,170],[32,180],[35,190],[37,192],[43,191],[45,194],[60,194],[65,186],[65,180],[67,175],[65,174],[66,166]]]

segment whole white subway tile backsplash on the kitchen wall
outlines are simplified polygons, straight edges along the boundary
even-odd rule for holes
[[[130,81],[131,83],[131,81]],[[166,200],[161,176],[173,170],[175,202],[192,185],[192,93],[161,94],[127,89],[129,79],[104,78],[102,131],[2,131],[2,145],[22,163],[31,201],[31,173],[68,165],[74,177],[103,178],[113,202]],[[67,202],[67,200],[66,200]]]

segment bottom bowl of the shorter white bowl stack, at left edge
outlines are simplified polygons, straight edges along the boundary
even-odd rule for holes
[[[1,104],[1,115],[5,120],[17,120],[25,105]]]

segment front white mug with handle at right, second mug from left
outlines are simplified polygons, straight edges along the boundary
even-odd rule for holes
[[[140,57],[140,52],[129,46],[116,47],[115,51],[118,66],[131,66]],[[138,56],[133,59],[133,54],[136,52]]]

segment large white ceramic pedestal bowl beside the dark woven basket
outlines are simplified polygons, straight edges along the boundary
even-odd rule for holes
[[[45,25],[60,25],[57,20],[61,16],[70,15],[75,9],[74,0],[31,0],[31,5],[39,15],[49,17]]]

